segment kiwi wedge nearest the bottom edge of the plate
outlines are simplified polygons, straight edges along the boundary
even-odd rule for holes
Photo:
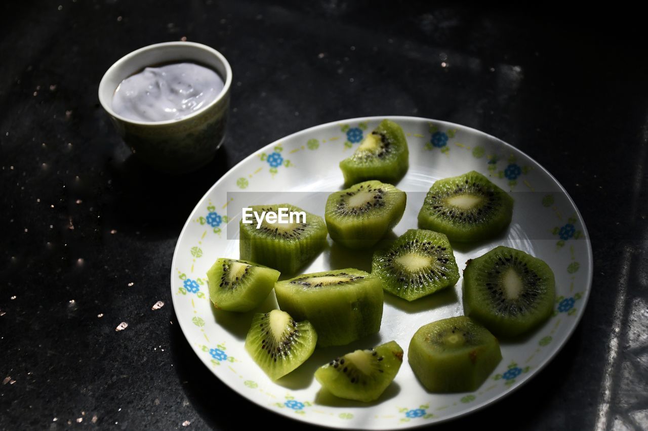
[[[390,341],[338,357],[318,368],[315,378],[336,397],[369,403],[385,392],[402,362],[403,349]]]

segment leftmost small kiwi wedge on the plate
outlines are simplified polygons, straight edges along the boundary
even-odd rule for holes
[[[207,271],[207,279],[209,298],[216,308],[250,311],[275,287],[279,271],[245,260],[220,258]]]

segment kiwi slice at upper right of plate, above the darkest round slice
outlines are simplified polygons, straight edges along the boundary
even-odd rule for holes
[[[419,212],[419,228],[443,232],[450,241],[474,242],[502,232],[512,214],[513,198],[470,171],[432,184]]]

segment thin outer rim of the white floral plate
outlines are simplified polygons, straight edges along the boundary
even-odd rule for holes
[[[524,379],[524,381],[521,384],[516,385],[515,387],[511,388],[510,390],[507,390],[506,392],[500,393],[499,395],[496,395],[495,397],[493,397],[491,399],[487,399],[487,400],[483,401],[480,404],[473,404],[468,410],[464,410],[462,412],[456,412],[454,414],[448,415],[447,417],[439,418],[439,420],[435,421],[434,423],[417,423],[417,424],[413,424],[413,425],[409,425],[409,426],[399,426],[398,428],[402,428],[402,429],[405,429],[405,428],[420,428],[421,426],[433,426],[435,424],[452,421],[454,419],[458,419],[459,417],[470,415],[470,414],[473,414],[475,412],[478,412],[479,410],[483,410],[487,406],[489,406],[491,404],[494,404],[494,403],[497,403],[498,401],[501,401],[505,397],[508,397],[509,395],[511,395],[511,393],[515,393],[519,388],[524,386],[524,384],[526,384],[526,382],[530,381],[531,379],[533,379],[533,377],[537,376],[538,373],[540,373],[542,370],[544,370],[544,368],[552,360],[554,360],[555,357],[557,357],[557,355],[562,351],[562,349],[567,344],[567,342],[572,338],[572,335],[573,335],[574,331],[576,330],[576,328],[581,323],[581,319],[583,318],[583,315],[585,313],[585,309],[587,307],[587,304],[588,304],[588,301],[589,301],[589,298],[590,298],[590,293],[592,291],[592,279],[593,279],[593,276],[594,276],[594,258],[593,258],[593,253],[592,253],[592,241],[590,240],[590,235],[589,235],[589,232],[587,230],[587,227],[586,227],[585,221],[583,219],[583,216],[581,214],[581,211],[579,210],[578,206],[573,201],[572,196],[567,192],[567,190],[565,190],[565,188],[564,188],[564,186],[562,186],[561,182],[558,181],[550,173],[550,171],[548,171],[542,164],[537,162],[537,160],[533,159],[533,157],[529,156],[527,153],[525,153],[521,149],[516,148],[512,144],[509,144],[508,142],[505,142],[504,140],[502,140],[502,139],[500,139],[498,137],[495,137],[494,135],[491,135],[490,133],[486,133],[486,132],[481,131],[479,129],[476,129],[474,127],[464,126],[463,124],[458,124],[458,123],[454,123],[454,122],[448,122],[448,121],[445,121],[445,120],[435,120],[433,118],[425,118],[425,117],[421,117],[421,116],[406,116],[406,115],[360,116],[360,117],[355,117],[355,118],[345,118],[345,119],[342,119],[342,120],[336,120],[336,121],[331,121],[331,122],[327,122],[327,123],[323,123],[323,124],[318,124],[316,126],[307,127],[305,129],[301,129],[301,130],[296,131],[294,133],[290,133],[290,135],[286,135],[286,136],[281,137],[281,138],[279,138],[277,140],[273,140],[272,142],[270,142],[267,145],[262,146],[261,148],[255,149],[254,151],[252,151],[248,155],[248,157],[245,157],[244,159],[240,160],[237,164],[235,164],[234,166],[229,168],[229,170],[227,170],[225,173],[223,173],[221,175],[221,177],[216,182],[214,182],[214,184],[198,200],[198,203],[196,203],[194,208],[192,208],[191,212],[189,212],[189,216],[187,217],[187,221],[185,221],[185,225],[182,227],[182,229],[180,231],[180,234],[178,235],[178,240],[176,241],[176,247],[174,247],[174,251],[173,251],[173,258],[172,258],[172,261],[171,261],[171,269],[170,269],[171,300],[172,300],[172,304],[173,304],[173,308],[174,308],[174,314],[176,315],[176,321],[178,322],[178,325],[180,326],[180,330],[182,332],[182,335],[183,335],[183,337],[185,337],[185,340],[187,341],[189,346],[191,346],[192,351],[194,351],[194,353],[196,354],[198,359],[200,359],[200,362],[202,362],[203,365],[205,367],[207,367],[207,369],[209,371],[211,371],[212,375],[214,375],[214,377],[216,377],[218,380],[220,380],[230,390],[232,390],[233,392],[238,393],[238,395],[240,395],[241,397],[244,397],[245,399],[247,399],[249,402],[255,404],[256,406],[264,408],[265,410],[268,410],[268,411],[272,412],[273,414],[278,414],[278,415],[284,416],[284,417],[286,417],[288,419],[293,419],[295,421],[308,423],[308,424],[314,425],[314,426],[320,426],[322,428],[338,428],[338,429],[346,428],[346,429],[358,429],[358,430],[373,429],[373,428],[357,428],[357,427],[354,427],[354,426],[351,426],[351,427],[349,427],[349,426],[341,426],[341,425],[333,424],[333,423],[326,423],[326,424],[314,423],[312,421],[308,421],[306,419],[306,417],[302,417],[302,416],[294,417],[294,416],[285,415],[282,412],[279,412],[277,410],[273,410],[272,408],[270,408],[270,406],[257,403],[257,401],[255,401],[251,397],[248,397],[247,395],[245,395],[245,393],[239,392],[238,390],[233,388],[233,386],[228,384],[226,381],[224,381],[223,379],[220,379],[220,377],[218,377],[218,375],[216,373],[214,373],[212,368],[209,368],[209,366],[207,366],[207,362],[205,362],[205,360],[203,360],[203,356],[200,355],[200,352],[199,352],[197,346],[192,344],[192,342],[187,337],[187,332],[185,331],[185,325],[188,325],[188,324],[183,324],[182,320],[178,318],[178,313],[176,312],[176,309],[177,309],[177,307],[176,307],[176,295],[174,295],[174,291],[173,291],[173,282],[174,282],[174,268],[176,267],[176,260],[178,259],[180,239],[185,234],[187,228],[189,228],[189,226],[191,225],[191,214],[194,214],[194,212],[196,212],[196,210],[198,210],[200,208],[200,206],[202,206],[205,199],[207,199],[207,197],[212,193],[212,191],[214,189],[216,189],[220,185],[221,182],[225,181],[227,175],[229,173],[231,173],[231,171],[238,168],[239,165],[242,165],[242,164],[246,163],[248,160],[253,159],[253,157],[255,157],[257,155],[257,153],[259,153],[259,151],[266,151],[266,149],[273,148],[279,142],[283,142],[284,140],[294,138],[297,135],[306,134],[306,133],[314,131],[316,129],[321,129],[321,128],[329,127],[329,126],[332,126],[332,125],[349,124],[349,123],[353,123],[353,122],[363,122],[363,121],[367,122],[367,121],[384,120],[384,119],[393,120],[395,122],[398,122],[399,120],[406,120],[406,121],[415,120],[415,121],[423,121],[423,122],[434,122],[434,123],[437,123],[437,124],[445,124],[447,126],[458,126],[458,127],[463,128],[463,129],[468,129],[469,131],[472,131],[472,133],[476,133],[477,135],[483,135],[483,136],[489,137],[489,138],[491,138],[493,140],[496,140],[498,143],[503,144],[505,146],[505,148],[514,149],[515,151],[518,151],[518,153],[520,153],[520,154],[524,155],[525,157],[527,157],[529,160],[531,160],[531,162],[535,163],[538,166],[538,168],[540,168],[540,170],[542,171],[542,173],[544,173],[544,175],[548,175],[548,177],[553,182],[555,182],[555,184],[557,184],[557,186],[559,187],[559,190],[562,193],[564,193],[564,196],[567,197],[568,202],[573,206],[573,208],[574,208],[574,210],[576,212],[577,218],[581,222],[581,225],[582,225],[582,228],[583,228],[583,234],[584,234],[583,241],[585,241],[586,246],[587,246],[586,247],[586,252],[587,252],[587,261],[588,261],[588,268],[589,268],[589,271],[587,272],[586,282],[583,283],[583,285],[584,285],[584,294],[583,294],[583,302],[582,302],[583,305],[580,307],[579,313],[577,313],[577,316],[575,316],[575,320],[573,322],[573,325],[568,329],[567,335],[566,335],[566,337],[564,337],[561,344],[552,353],[550,353],[550,355],[542,363],[538,364],[538,366],[537,366],[535,372],[533,373],[533,375],[527,377],[527,379]],[[390,429],[391,430],[391,429],[397,429],[397,427],[396,426],[391,426],[389,428],[376,428],[376,429]]]

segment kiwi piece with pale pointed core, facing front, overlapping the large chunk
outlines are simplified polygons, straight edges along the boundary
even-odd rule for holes
[[[272,380],[295,370],[312,355],[318,335],[309,322],[297,322],[288,313],[258,313],[245,338],[249,355]]]

